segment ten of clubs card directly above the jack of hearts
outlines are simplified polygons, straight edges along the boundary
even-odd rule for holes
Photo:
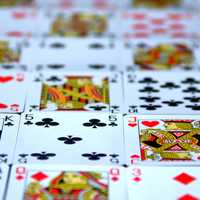
[[[125,113],[198,114],[199,84],[195,72],[127,73]]]

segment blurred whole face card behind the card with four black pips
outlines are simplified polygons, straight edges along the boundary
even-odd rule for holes
[[[98,9],[73,8],[55,10],[44,15],[39,28],[42,35],[58,37],[113,37],[116,22],[113,15]]]

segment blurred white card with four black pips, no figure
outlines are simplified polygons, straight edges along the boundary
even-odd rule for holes
[[[31,42],[21,63],[32,71],[111,71],[119,70],[119,51],[117,42],[109,39],[51,37]]]

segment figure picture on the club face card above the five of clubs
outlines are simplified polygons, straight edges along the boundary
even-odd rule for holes
[[[109,105],[108,78],[97,82],[92,76],[66,76],[61,84],[43,84],[40,110],[84,111],[96,104]]]

